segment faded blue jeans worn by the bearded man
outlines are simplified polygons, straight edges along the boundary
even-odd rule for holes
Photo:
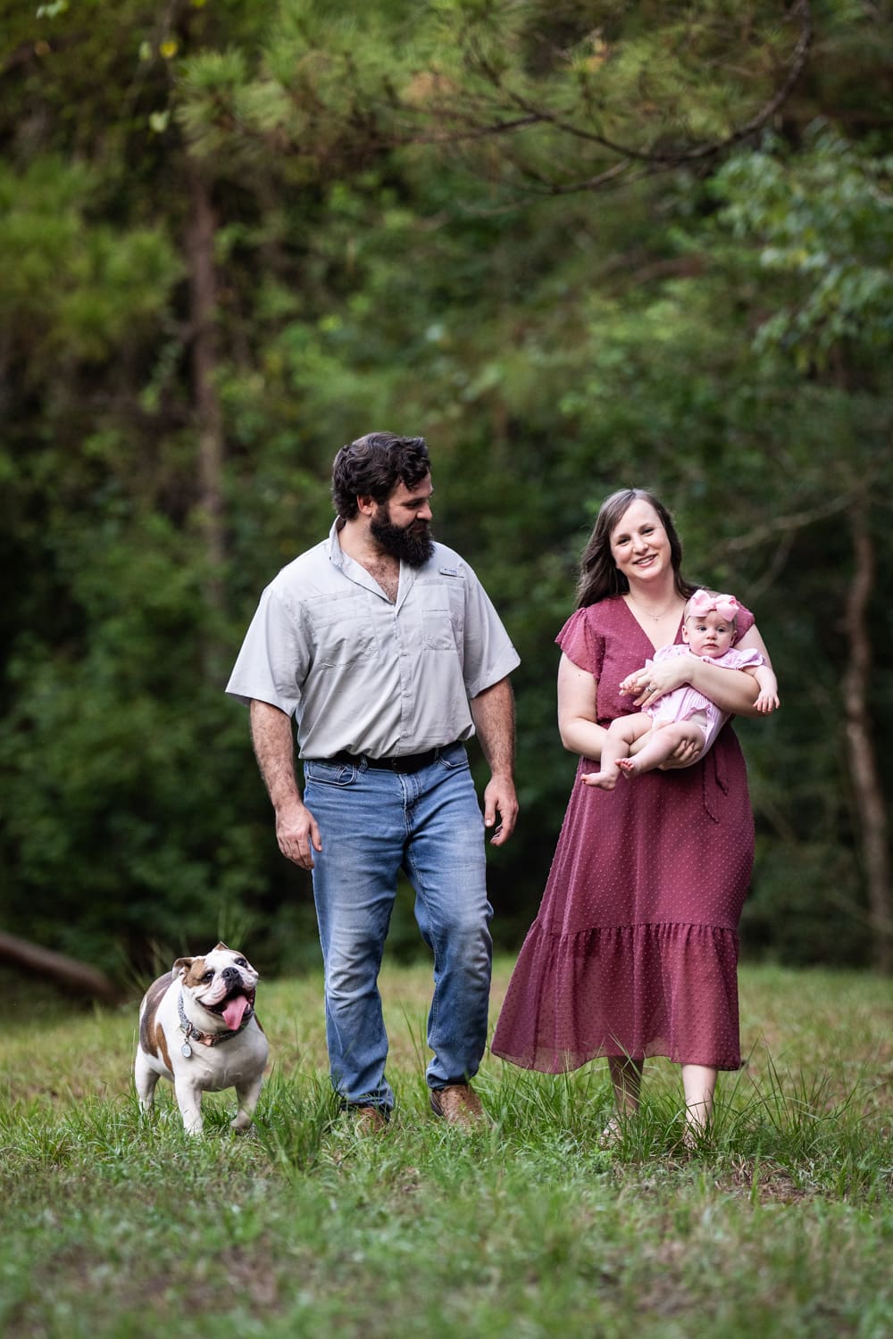
[[[493,908],[467,754],[450,744],[415,773],[307,759],[304,777],[304,803],[323,838],[313,896],[332,1086],[347,1102],[390,1111],[378,975],[400,869],[434,953],[428,1086],[470,1079],[486,1044]]]

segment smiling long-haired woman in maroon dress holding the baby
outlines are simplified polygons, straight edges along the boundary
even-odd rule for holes
[[[645,668],[657,647],[680,640],[696,589],[680,565],[657,498],[643,489],[606,498],[582,556],[577,612],[557,637],[558,728],[581,755],[577,779],[493,1051],[550,1074],[605,1055],[623,1115],[639,1109],[645,1056],[665,1055],[681,1065],[691,1138],[710,1118],[716,1071],[740,1066],[738,921],[754,857],[744,759],[726,724],[696,762],[684,744],[664,770],[615,790],[580,785],[598,771],[613,719],[683,683],[724,712],[756,714],[758,686],[742,670],[695,656]],[[739,649],[768,661],[743,607],[736,631]],[[621,695],[624,680],[632,691]]]

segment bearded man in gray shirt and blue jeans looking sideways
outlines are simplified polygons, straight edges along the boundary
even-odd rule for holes
[[[434,953],[431,1107],[485,1119],[470,1082],[490,994],[483,830],[502,845],[518,811],[518,656],[471,568],[431,538],[431,493],[423,438],[341,447],[329,537],[264,590],[226,688],[250,703],[280,850],[313,872],[332,1085],[370,1129],[394,1106],[378,973],[400,869]],[[463,746],[475,731],[483,821]]]

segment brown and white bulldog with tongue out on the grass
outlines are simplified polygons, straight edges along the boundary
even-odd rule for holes
[[[257,972],[218,944],[204,957],[178,957],[139,1006],[134,1079],[150,1111],[159,1075],[170,1079],[189,1134],[202,1133],[202,1093],[234,1087],[230,1122],[246,1130],[257,1106],[269,1046],[254,1014]]]

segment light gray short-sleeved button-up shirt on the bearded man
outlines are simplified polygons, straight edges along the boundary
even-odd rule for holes
[[[400,564],[391,604],[337,530],[266,586],[226,692],[296,716],[304,758],[391,758],[467,739],[469,698],[519,663],[483,586],[435,544],[423,566]]]

